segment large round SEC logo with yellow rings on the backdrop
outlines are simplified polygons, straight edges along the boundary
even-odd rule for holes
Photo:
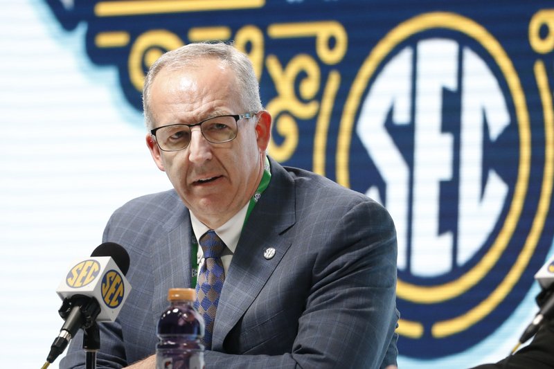
[[[363,175],[349,172],[356,134],[373,168],[366,177],[380,179],[366,194],[397,228],[403,354],[461,352],[520,302],[514,286],[537,244],[517,228],[535,211],[530,132],[512,60],[472,19],[413,17],[361,66],[341,118],[337,181]]]

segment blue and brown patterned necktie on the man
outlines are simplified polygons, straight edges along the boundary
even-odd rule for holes
[[[198,274],[194,305],[198,312],[204,316],[204,323],[206,323],[204,345],[206,350],[210,350],[215,312],[217,303],[220,302],[220,294],[225,280],[225,271],[220,258],[222,251],[225,249],[225,244],[213,230],[204,233],[200,237],[199,244],[202,251],[204,251],[204,264]]]

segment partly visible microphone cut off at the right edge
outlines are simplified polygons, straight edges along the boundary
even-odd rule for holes
[[[554,255],[537,271],[535,280],[542,287],[542,291],[537,295],[537,304],[540,309],[524,333],[521,334],[519,343],[512,352],[515,352],[519,345],[525,343],[537,333],[545,318],[549,319],[554,314]]]

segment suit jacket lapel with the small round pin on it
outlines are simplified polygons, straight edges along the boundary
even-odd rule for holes
[[[225,336],[260,294],[289,249],[291,240],[285,231],[296,221],[294,204],[294,182],[283,167],[271,161],[271,182],[242,229],[225,277],[213,328],[212,350],[222,350]],[[268,248],[275,249],[273,258],[264,257]]]

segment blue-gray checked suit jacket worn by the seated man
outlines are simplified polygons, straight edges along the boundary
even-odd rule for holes
[[[271,182],[226,274],[206,368],[379,368],[396,359],[396,236],[386,210],[324,177],[271,161]],[[104,241],[129,252],[132,291],[101,323],[98,367],[154,353],[172,287],[190,286],[190,215],[175,191],[129,201]],[[276,250],[266,260],[264,251]],[[60,368],[83,366],[81,336]]]

